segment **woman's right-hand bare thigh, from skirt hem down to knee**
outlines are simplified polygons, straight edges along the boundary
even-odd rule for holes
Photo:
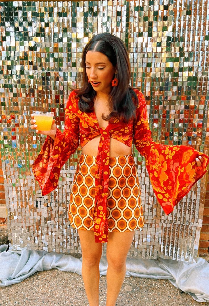
[[[133,232],[109,232],[107,242],[107,260],[114,265],[123,265],[133,241]]]

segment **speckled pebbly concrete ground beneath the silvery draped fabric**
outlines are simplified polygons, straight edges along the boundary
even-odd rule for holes
[[[7,244],[6,226],[0,226],[0,244]],[[204,257],[208,260],[208,256]],[[100,278],[100,306],[105,306],[106,276]],[[22,282],[0,288],[0,306],[87,306],[82,277],[57,269],[37,272]],[[125,278],[116,306],[200,306],[167,279]]]

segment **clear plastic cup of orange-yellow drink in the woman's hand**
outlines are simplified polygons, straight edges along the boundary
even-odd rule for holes
[[[34,119],[37,124],[37,130],[39,131],[49,131],[51,129],[52,120],[55,113],[50,112],[40,112],[33,110]]]

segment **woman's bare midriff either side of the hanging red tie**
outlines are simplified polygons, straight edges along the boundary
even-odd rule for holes
[[[82,148],[85,155],[97,156],[100,136],[97,136],[87,142]],[[126,146],[122,142],[110,137],[110,157],[129,155],[132,153],[131,147]]]

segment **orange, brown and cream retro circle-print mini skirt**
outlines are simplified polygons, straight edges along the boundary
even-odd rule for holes
[[[70,225],[94,230],[96,156],[81,154],[69,205]],[[126,232],[143,227],[143,207],[133,155],[110,158],[107,199],[108,231]]]

